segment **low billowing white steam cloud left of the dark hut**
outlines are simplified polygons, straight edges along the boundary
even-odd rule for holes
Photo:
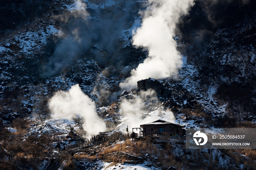
[[[84,119],[83,129],[86,138],[106,131],[106,124],[97,115],[95,103],[82,92],[79,85],[74,85],[68,92],[59,91],[49,100],[49,107],[53,118],[71,120],[79,115]]]

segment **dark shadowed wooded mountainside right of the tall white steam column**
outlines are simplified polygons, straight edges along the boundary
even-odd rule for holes
[[[231,116],[254,115],[255,2],[209,4],[212,8],[198,1],[184,25],[180,24],[182,41],[188,42],[181,51],[200,67],[202,88],[217,88],[216,97],[227,104]],[[200,24],[191,26],[195,21]]]

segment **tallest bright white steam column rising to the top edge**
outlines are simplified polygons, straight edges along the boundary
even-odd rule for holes
[[[187,13],[193,0],[148,0],[142,26],[133,34],[133,45],[147,47],[148,58],[120,84],[122,89],[136,88],[136,82],[152,77],[169,77],[182,65],[181,55],[173,39],[174,28],[181,15]]]

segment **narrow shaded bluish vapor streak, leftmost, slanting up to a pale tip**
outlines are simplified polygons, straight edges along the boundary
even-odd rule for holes
[[[88,16],[86,4],[81,0],[75,2],[73,11],[65,15],[52,16],[53,20],[64,24],[64,27],[60,28],[58,36],[61,41],[57,44],[53,55],[49,57],[45,76],[51,76],[70,66],[74,59],[82,54],[82,49],[89,49],[94,34],[83,31]]]

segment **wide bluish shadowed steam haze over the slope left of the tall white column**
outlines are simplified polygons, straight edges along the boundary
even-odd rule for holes
[[[127,19],[132,16],[130,11],[133,1],[113,0],[111,6],[104,3],[108,1],[103,1],[98,8],[90,8],[89,13],[86,4],[78,0],[75,3],[76,10],[53,17],[61,23],[63,35],[46,65],[46,76],[71,66],[78,58],[87,57],[85,52],[90,48],[90,57],[94,54],[93,57],[98,63],[106,65],[117,49],[121,31],[127,29]]]

